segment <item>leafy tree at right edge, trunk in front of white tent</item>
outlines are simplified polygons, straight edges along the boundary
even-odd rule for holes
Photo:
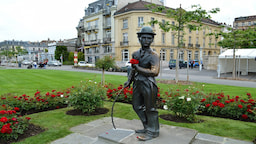
[[[233,29],[228,28],[230,32],[218,32],[210,33],[209,35],[214,35],[216,38],[220,36],[223,37],[221,41],[218,42],[218,45],[223,48],[233,49],[233,72],[232,78],[236,78],[236,58],[235,58],[235,49],[236,48],[255,48],[256,47],[256,27],[248,29]]]

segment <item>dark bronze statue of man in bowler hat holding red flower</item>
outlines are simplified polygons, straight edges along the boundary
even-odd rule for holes
[[[159,56],[150,45],[156,35],[151,27],[142,27],[137,33],[141,48],[132,54],[132,70],[124,87],[133,82],[132,105],[139,116],[143,129],[135,130],[142,141],[159,136],[158,111],[156,109],[157,84],[155,77],[159,74]]]

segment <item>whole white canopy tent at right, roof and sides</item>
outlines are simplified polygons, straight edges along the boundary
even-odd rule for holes
[[[256,49],[236,49],[236,71],[241,75],[248,75],[248,72],[256,72]],[[233,71],[233,49],[228,49],[219,55],[218,73]]]

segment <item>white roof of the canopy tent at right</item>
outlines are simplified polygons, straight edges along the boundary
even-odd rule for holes
[[[242,59],[255,59],[256,58],[256,48],[250,49],[236,49],[235,55],[237,58]],[[219,58],[233,58],[233,49],[228,49],[219,55]]]

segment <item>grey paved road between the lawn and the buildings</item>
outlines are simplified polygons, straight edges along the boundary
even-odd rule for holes
[[[6,67],[11,69],[17,69],[17,67]],[[25,69],[26,67],[21,67],[19,69]],[[52,70],[65,70],[65,71],[79,71],[79,72],[89,72],[89,73],[101,73],[101,71],[95,70],[84,70],[72,68],[72,66],[61,66],[61,67],[47,67],[46,69]],[[202,82],[202,83],[211,83],[211,84],[221,84],[221,85],[230,85],[230,86],[239,86],[239,87],[251,87],[256,88],[256,73],[240,76],[240,80],[230,80],[224,78],[231,78],[231,73],[222,74],[220,78],[217,78],[217,72],[214,70],[205,70],[199,71],[198,68],[189,69],[189,81],[193,82]],[[122,75],[126,76],[125,72],[105,72],[105,74],[112,75]],[[157,79],[165,80],[175,80],[175,69],[170,70],[169,68],[163,68],[158,75]],[[241,80],[242,79],[242,80]],[[179,80],[187,80],[187,69],[179,69]]]

